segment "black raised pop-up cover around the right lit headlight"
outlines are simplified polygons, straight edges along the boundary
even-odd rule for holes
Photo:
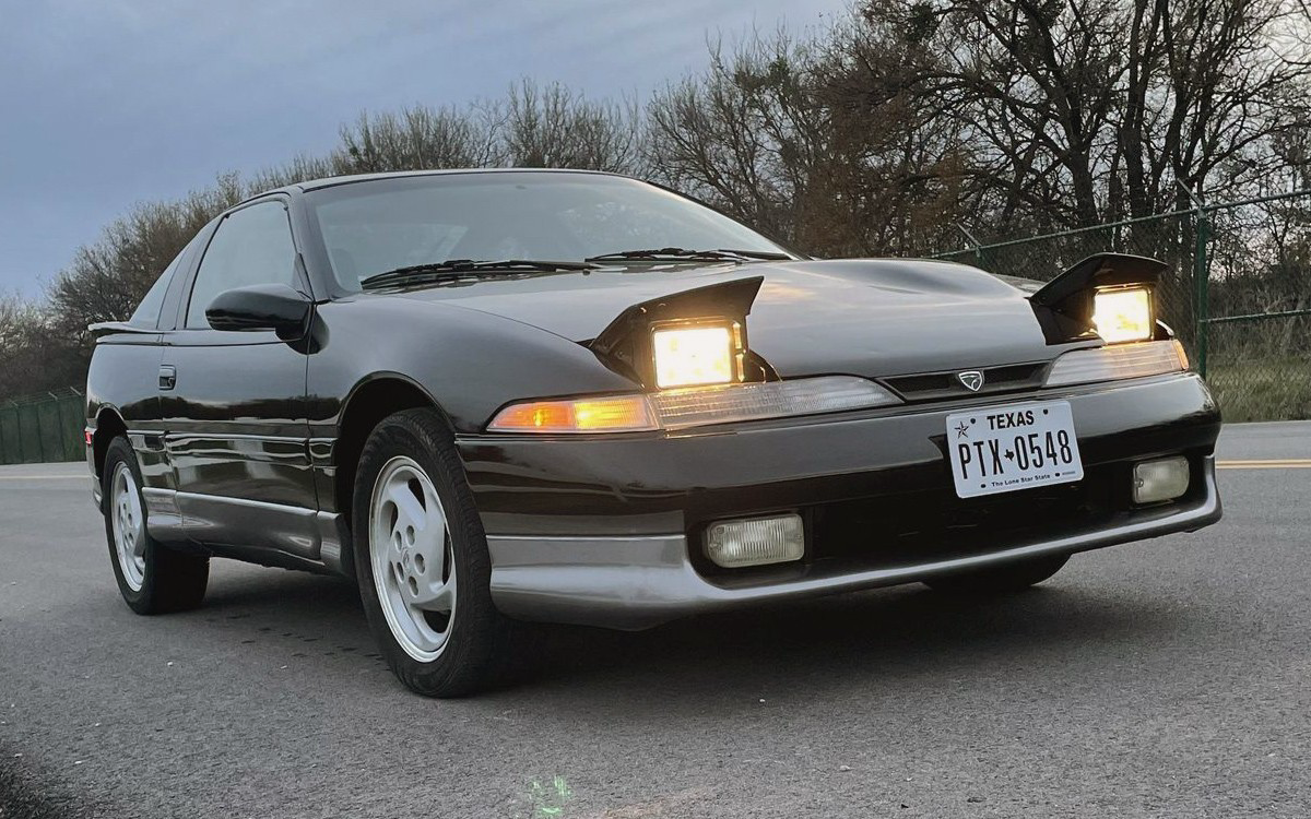
[[[1167,270],[1169,265],[1146,256],[1097,253],[1044,284],[1029,296],[1029,303],[1049,345],[1093,337],[1092,296],[1099,287],[1147,284],[1155,288]],[[1158,332],[1162,332],[1159,324]]]

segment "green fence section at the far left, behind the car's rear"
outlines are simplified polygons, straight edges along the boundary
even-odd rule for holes
[[[76,461],[85,457],[81,390],[60,390],[0,401],[0,464]]]

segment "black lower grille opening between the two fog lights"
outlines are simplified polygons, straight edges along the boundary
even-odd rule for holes
[[[995,552],[1109,522],[1131,508],[1127,464],[1089,468],[1075,484],[961,499],[950,487],[812,508],[812,557],[881,567]]]

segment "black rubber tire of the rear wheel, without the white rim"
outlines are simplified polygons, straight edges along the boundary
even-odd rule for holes
[[[140,537],[144,539],[144,574],[140,588],[132,588],[119,563],[114,539],[115,512],[113,503],[113,484],[119,465],[125,465],[136,486],[136,501],[140,505]],[[101,491],[105,514],[105,540],[109,544],[109,562],[114,567],[114,579],[123,600],[138,615],[163,615],[195,608],[205,599],[205,587],[210,582],[210,558],[198,554],[185,554],[170,549],[151,537],[146,528],[146,499],[142,495],[142,469],[131,444],[122,435],[110,442],[105,452],[105,467],[101,473]]]

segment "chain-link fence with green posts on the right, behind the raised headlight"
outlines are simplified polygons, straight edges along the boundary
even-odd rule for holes
[[[964,231],[962,231],[964,232]],[[1113,250],[1169,265],[1158,314],[1211,385],[1226,421],[1311,418],[1311,191],[1205,204],[935,258],[1049,280]]]

